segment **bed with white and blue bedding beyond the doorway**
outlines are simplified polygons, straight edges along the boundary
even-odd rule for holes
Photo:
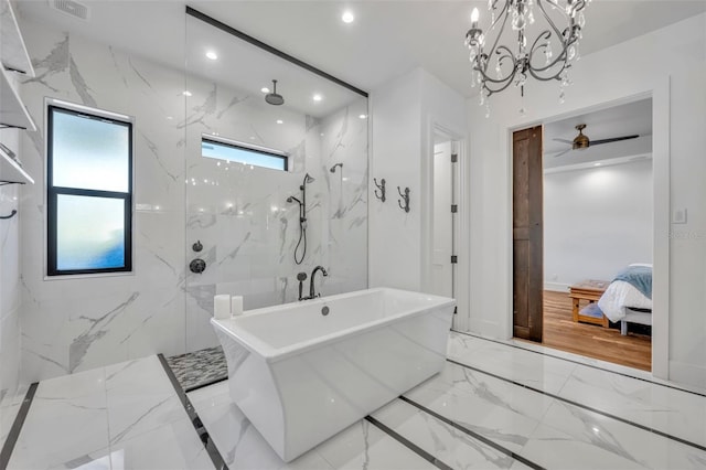
[[[628,323],[652,324],[652,265],[632,264],[618,273],[598,300],[598,307],[612,322],[620,322],[620,333],[628,334]]]

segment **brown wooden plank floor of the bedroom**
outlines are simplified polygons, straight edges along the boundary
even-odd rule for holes
[[[544,341],[548,348],[650,371],[652,339],[598,324],[575,323],[566,292],[544,291]]]

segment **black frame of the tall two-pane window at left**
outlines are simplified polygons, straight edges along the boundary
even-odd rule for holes
[[[87,119],[96,119],[104,122],[126,126],[128,129],[128,191],[126,193],[116,191],[86,190],[78,188],[66,188],[54,185],[54,113],[64,113],[79,116]],[[115,273],[132,271],[132,161],[133,161],[133,122],[129,118],[119,119],[110,117],[110,113],[101,114],[99,109],[85,110],[84,107],[73,108],[71,105],[58,105],[49,103],[46,106],[46,275],[47,276],[73,276],[73,275],[101,275]],[[106,197],[124,201],[125,215],[125,266],[99,268],[99,269],[58,269],[56,266],[57,246],[57,203],[60,195],[78,195],[90,197]]]

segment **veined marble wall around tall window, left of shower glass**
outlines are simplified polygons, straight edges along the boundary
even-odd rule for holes
[[[110,44],[22,24],[36,76],[20,94],[35,132],[21,142],[38,184],[21,210],[22,375],[25,381],[185,348],[184,76]],[[133,273],[45,277],[45,98],[124,114],[133,127]]]

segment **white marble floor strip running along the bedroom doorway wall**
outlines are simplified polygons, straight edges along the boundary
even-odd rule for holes
[[[706,447],[703,395],[457,333],[449,357]]]

